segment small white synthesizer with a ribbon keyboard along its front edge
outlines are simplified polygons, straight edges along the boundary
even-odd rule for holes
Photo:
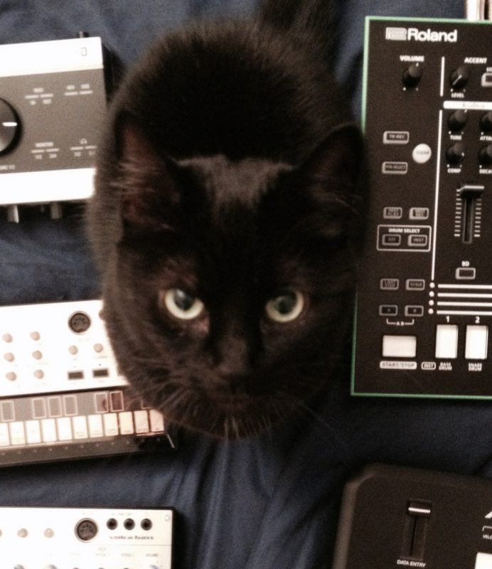
[[[119,373],[100,300],[0,307],[0,466],[174,446]]]

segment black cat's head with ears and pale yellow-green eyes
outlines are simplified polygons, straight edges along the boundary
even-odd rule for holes
[[[118,121],[119,235],[104,282],[122,372],[171,422],[225,438],[303,410],[351,325],[360,133],[298,167],[176,161]]]

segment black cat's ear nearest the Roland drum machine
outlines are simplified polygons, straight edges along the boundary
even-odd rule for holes
[[[363,173],[363,136],[355,123],[345,123],[331,130],[301,166],[307,179],[326,188],[338,186],[353,191]],[[351,189],[352,188],[352,189]]]

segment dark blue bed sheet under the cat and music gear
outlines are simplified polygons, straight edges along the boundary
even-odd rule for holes
[[[129,64],[164,31],[192,18],[247,16],[255,4],[0,0],[0,43],[82,29]],[[354,108],[365,15],[461,17],[462,4],[340,0],[337,73],[355,86]],[[0,222],[0,304],[97,291],[80,218]],[[331,565],[341,488],[363,464],[492,475],[489,403],[350,398],[348,353],[346,362],[310,415],[261,437],[227,444],[182,434],[176,452],[1,469],[0,505],[174,506],[176,569],[314,569]]]

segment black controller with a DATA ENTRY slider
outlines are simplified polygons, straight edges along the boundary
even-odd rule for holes
[[[343,496],[333,569],[491,569],[492,480],[373,465]]]

